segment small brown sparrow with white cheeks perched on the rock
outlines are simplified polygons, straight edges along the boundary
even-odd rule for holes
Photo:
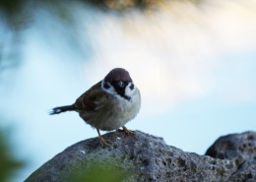
[[[112,131],[122,128],[126,135],[134,134],[125,124],[134,119],[141,108],[141,93],[134,85],[128,71],[112,69],[103,80],[79,96],[75,103],[52,108],[50,115],[77,111],[80,117],[96,128],[101,146],[111,146],[99,130]]]

